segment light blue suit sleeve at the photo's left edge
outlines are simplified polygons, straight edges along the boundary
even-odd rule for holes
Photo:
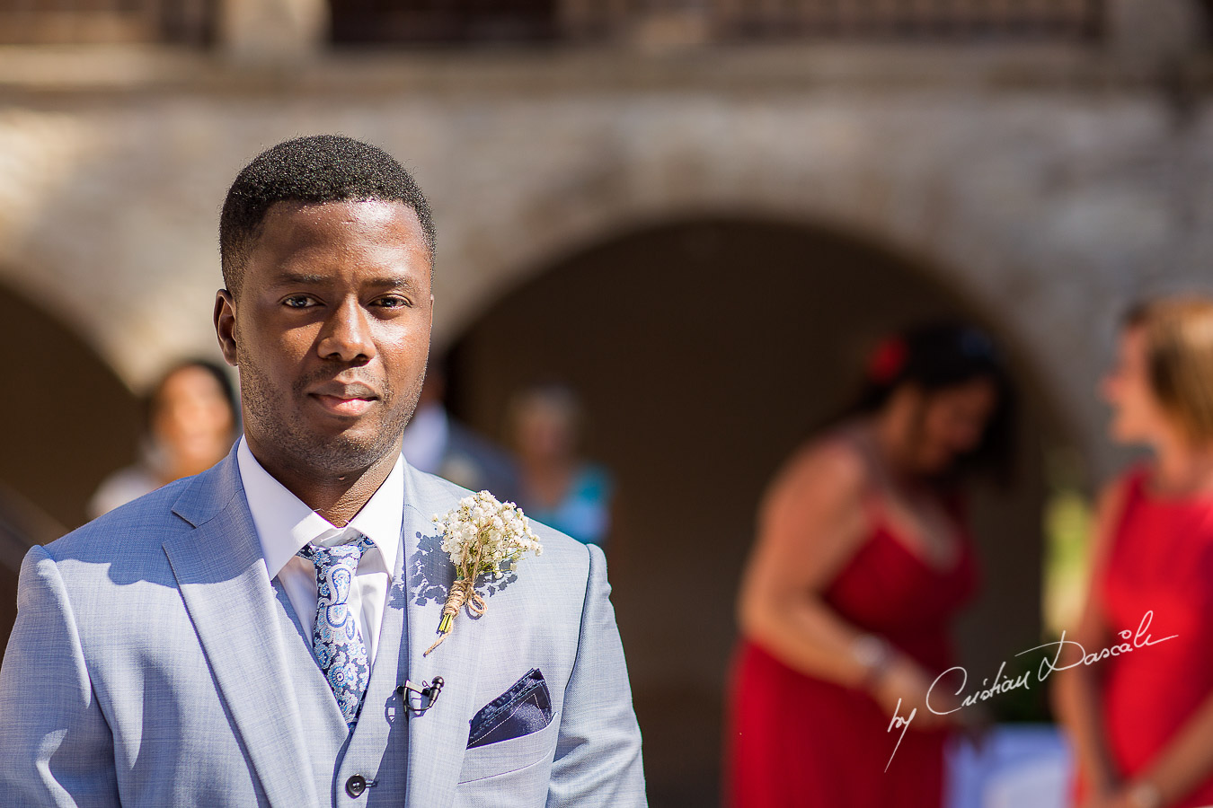
[[[0,666],[0,806],[118,806],[114,743],[85,667],[63,579],[33,548]]]

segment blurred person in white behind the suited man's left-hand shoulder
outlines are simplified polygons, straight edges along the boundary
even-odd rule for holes
[[[188,360],[170,367],[144,403],[141,459],[101,483],[89,504],[93,517],[150,493],[173,480],[205,471],[235,441],[238,409],[227,372]]]

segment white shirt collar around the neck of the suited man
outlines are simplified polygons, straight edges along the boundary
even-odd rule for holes
[[[388,579],[392,578],[404,521],[403,457],[395,459],[395,465],[392,466],[383,485],[371,494],[361,510],[343,528],[336,527],[304,505],[298,497],[266,471],[252,455],[243,436],[237,448],[237,466],[270,579],[281,572],[286,562],[295,557],[304,544],[332,543],[348,528],[357,529],[375,543],[383,557]]]

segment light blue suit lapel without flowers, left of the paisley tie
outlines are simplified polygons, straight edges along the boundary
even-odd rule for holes
[[[200,475],[173,511],[195,526],[164,543],[220,695],[269,803],[318,804],[292,689],[286,640],[235,453]],[[304,774],[306,773],[306,774]],[[303,774],[303,777],[301,777]]]

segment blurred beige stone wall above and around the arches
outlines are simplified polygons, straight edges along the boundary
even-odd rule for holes
[[[40,64],[38,59],[42,59]],[[0,53],[0,282],[131,385],[212,350],[216,219],[257,150],[341,131],[439,225],[437,342],[562,256],[696,213],[870,239],[1030,357],[1103,474],[1092,389],[1132,298],[1208,286],[1213,120],[1081,52]],[[1190,93],[1191,94],[1191,93]]]

